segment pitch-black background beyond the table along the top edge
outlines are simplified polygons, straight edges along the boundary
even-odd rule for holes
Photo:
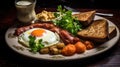
[[[0,2],[0,10],[8,10],[14,8],[15,0],[2,0]],[[37,0],[37,7],[57,7],[57,5],[65,4],[74,8],[97,8],[97,9],[119,9],[119,0]]]

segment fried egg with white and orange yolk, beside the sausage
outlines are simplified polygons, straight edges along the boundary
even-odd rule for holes
[[[18,36],[18,42],[24,46],[29,47],[29,36],[35,36],[35,42],[42,39],[44,47],[55,45],[60,41],[60,37],[57,33],[43,28],[33,28],[27,30]]]

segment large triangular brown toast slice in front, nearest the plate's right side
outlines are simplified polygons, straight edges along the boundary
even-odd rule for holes
[[[105,19],[98,19],[87,28],[79,31],[78,36],[82,39],[94,42],[105,42],[108,40],[108,22]]]

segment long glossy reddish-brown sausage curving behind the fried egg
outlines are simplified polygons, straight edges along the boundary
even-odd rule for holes
[[[68,44],[68,43],[73,44],[79,41],[78,37],[74,37],[67,30],[63,30],[52,23],[35,23],[29,26],[20,27],[15,30],[14,34],[19,36],[21,33],[32,28],[45,28],[52,32],[56,32],[65,44]]]

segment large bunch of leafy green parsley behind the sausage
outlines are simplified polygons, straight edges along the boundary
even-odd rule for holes
[[[73,35],[76,35],[79,30],[82,29],[82,25],[77,20],[77,18],[72,16],[72,11],[65,9],[62,9],[62,6],[59,5],[58,12],[55,12],[54,15],[56,17],[55,20],[53,20],[53,23],[63,29],[66,29]]]

